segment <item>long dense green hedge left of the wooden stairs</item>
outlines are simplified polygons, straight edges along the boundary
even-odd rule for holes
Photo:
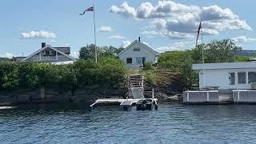
[[[78,60],[72,65],[37,62],[0,62],[0,90],[41,86],[74,90],[82,86],[116,86],[124,82],[126,66],[114,56]]]

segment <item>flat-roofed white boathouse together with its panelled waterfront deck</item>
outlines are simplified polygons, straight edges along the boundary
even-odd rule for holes
[[[194,64],[198,90],[183,92],[185,103],[256,103],[256,62]]]

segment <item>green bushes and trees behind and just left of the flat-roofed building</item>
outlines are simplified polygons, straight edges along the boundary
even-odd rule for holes
[[[197,86],[198,73],[191,70],[192,63],[202,63],[202,50],[204,52],[204,62],[247,62],[248,57],[238,56],[240,46],[236,46],[230,39],[222,41],[212,41],[208,44],[201,44],[192,50],[170,51],[161,54],[158,58],[160,69],[167,69],[178,72],[182,75],[182,81],[186,89]]]

